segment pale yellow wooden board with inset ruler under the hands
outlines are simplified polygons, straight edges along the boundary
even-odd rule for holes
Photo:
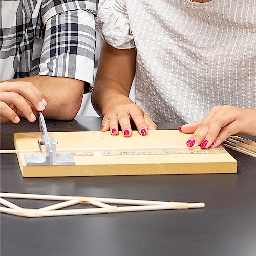
[[[75,165],[26,166],[24,155],[27,153],[17,152],[23,177],[237,172],[237,161],[222,146],[217,150],[188,148],[185,142],[191,135],[178,130],[148,131],[147,136],[133,131],[131,137],[100,131],[50,132],[49,135],[58,141],[57,151],[70,148]],[[40,133],[14,133],[15,148],[20,151],[38,148],[40,139]],[[110,155],[102,155],[102,152]]]

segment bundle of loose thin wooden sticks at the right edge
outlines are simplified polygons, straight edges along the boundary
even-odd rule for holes
[[[224,146],[256,158],[256,141],[230,136],[224,141]]]

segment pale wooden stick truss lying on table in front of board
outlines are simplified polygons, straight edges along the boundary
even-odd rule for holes
[[[61,202],[39,209],[29,209],[19,207],[18,205],[6,200],[5,198],[39,199]],[[165,202],[133,199],[97,198],[83,196],[55,196],[19,193],[0,193],[0,204],[3,205],[0,206],[0,212],[22,217],[112,214],[116,212],[191,209],[205,207],[204,203]],[[86,209],[63,209],[65,207],[77,204],[90,204],[96,207]],[[120,204],[126,206],[117,206]]]

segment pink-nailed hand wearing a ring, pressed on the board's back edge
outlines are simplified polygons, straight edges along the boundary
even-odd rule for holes
[[[117,135],[120,124],[123,136],[128,137],[132,132],[131,120],[141,135],[146,135],[147,130],[157,129],[152,119],[131,99],[125,95],[116,96],[104,113],[101,131],[110,131],[112,135]]]

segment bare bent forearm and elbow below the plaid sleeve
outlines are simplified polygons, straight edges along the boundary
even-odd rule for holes
[[[72,120],[81,106],[84,90],[83,81],[39,75],[10,81],[31,82],[40,90],[48,103],[44,111],[47,118]]]

